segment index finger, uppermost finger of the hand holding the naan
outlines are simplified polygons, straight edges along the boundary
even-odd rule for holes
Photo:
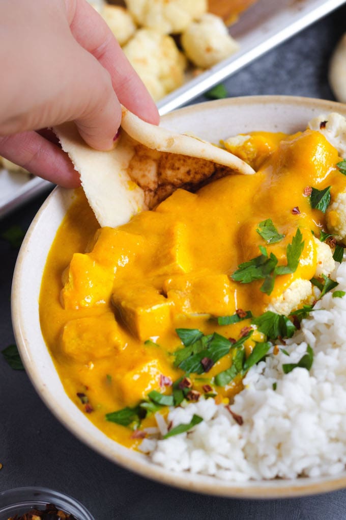
[[[144,121],[158,124],[153,99],[103,18],[86,0],[65,0],[65,4],[75,40],[109,72],[120,103]]]

